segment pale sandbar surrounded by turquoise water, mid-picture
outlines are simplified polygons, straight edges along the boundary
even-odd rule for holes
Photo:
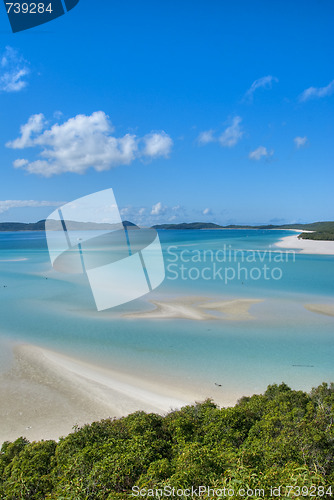
[[[173,300],[150,300],[155,306],[149,311],[140,311],[124,314],[126,318],[142,319],[191,319],[197,321],[207,320],[248,320],[253,319],[249,308],[262,299],[235,299],[210,301],[208,297],[180,297]],[[212,311],[220,315],[211,314]]]

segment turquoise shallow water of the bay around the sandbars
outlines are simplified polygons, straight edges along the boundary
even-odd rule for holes
[[[97,313],[83,276],[52,270],[44,233],[0,233],[0,364],[6,368],[9,363],[10,341],[48,347],[147,378],[159,374],[176,385],[202,384],[208,395],[214,383],[242,395],[283,380],[307,390],[332,381],[334,318],[312,313],[304,305],[333,304],[334,256],[277,252],[274,243],[291,234],[161,231],[166,279],[148,299],[201,295],[263,300],[252,306],[253,320],[191,321],[121,317],[123,312],[147,308],[144,299]],[[236,250],[242,252],[234,260]],[[264,265],[266,277],[259,274]]]

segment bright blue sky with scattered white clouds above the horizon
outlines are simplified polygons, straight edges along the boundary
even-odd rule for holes
[[[333,219],[332,0],[0,14],[0,220],[109,187],[142,224]]]

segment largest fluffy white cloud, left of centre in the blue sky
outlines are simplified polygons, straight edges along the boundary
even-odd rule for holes
[[[152,132],[140,138],[133,134],[114,135],[114,127],[103,111],[77,115],[62,124],[48,126],[43,114],[33,115],[21,127],[20,136],[6,144],[12,149],[40,148],[40,158],[19,158],[15,168],[44,177],[72,172],[83,174],[128,165],[136,158],[168,157],[173,141],[165,132]]]

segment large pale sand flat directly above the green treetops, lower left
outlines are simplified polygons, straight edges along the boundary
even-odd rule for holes
[[[58,439],[83,425],[137,410],[166,413],[193,395],[104,370],[34,346],[16,346],[0,376],[0,445],[25,436]],[[180,397],[178,398],[178,395]]]

